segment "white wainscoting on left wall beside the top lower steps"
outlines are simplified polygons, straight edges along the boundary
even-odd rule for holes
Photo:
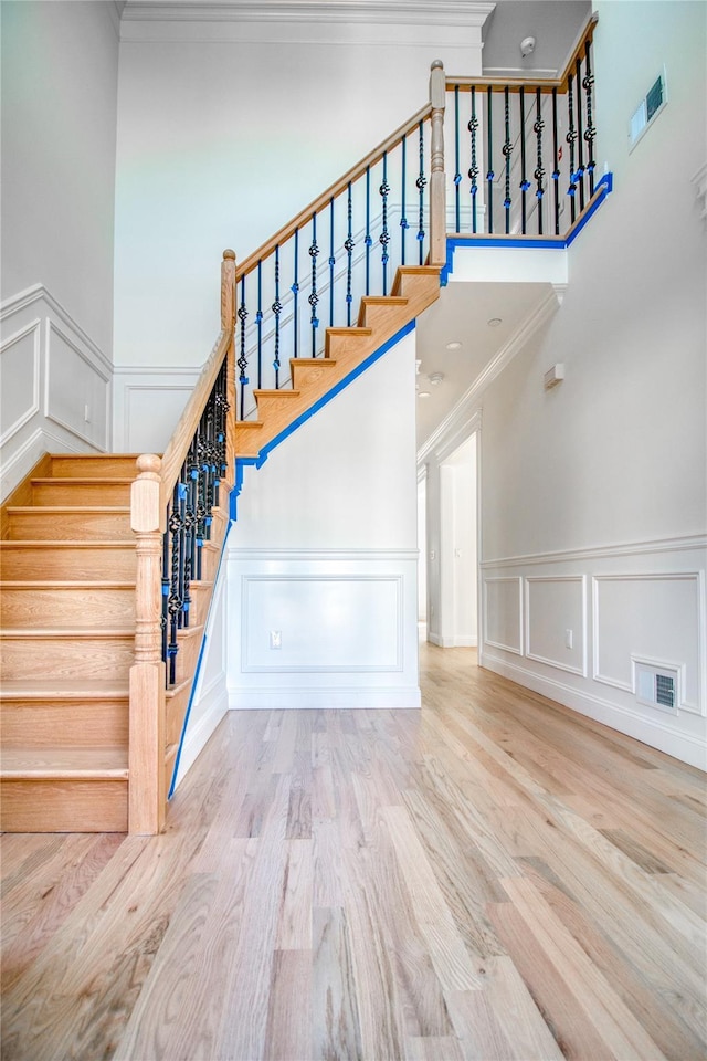
[[[42,285],[0,307],[1,496],[48,452],[112,445],[112,365]]]

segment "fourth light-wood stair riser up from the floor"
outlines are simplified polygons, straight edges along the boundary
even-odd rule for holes
[[[202,595],[192,595],[194,601]],[[199,605],[192,603],[192,609]],[[6,628],[93,623],[110,627],[135,620],[133,589],[3,589]]]

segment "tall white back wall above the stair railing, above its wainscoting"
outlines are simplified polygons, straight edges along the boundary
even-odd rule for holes
[[[222,250],[247,256],[422,107],[433,60],[481,71],[488,6],[475,7],[457,24],[372,9],[362,21],[325,9],[316,20],[300,10],[281,22],[146,22],[128,8],[116,363],[202,364],[219,328]]]

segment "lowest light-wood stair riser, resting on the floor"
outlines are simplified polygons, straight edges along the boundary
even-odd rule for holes
[[[4,832],[127,832],[127,780],[8,780],[0,784]]]

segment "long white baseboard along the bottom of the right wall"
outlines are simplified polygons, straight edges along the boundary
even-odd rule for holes
[[[689,763],[700,770],[707,769],[707,742],[704,733],[686,733],[678,729],[675,725],[671,725],[671,715],[656,713],[656,717],[648,718],[637,710],[595,696],[557,679],[537,674],[492,653],[485,653],[483,665],[495,674],[531,689],[643,744],[658,748],[683,763]]]

